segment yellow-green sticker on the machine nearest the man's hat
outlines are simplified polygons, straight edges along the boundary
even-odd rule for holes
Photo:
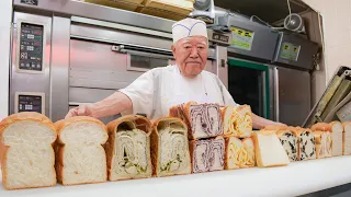
[[[231,44],[234,48],[244,50],[251,50],[254,33],[251,31],[238,28],[236,26],[230,27],[231,31]]]

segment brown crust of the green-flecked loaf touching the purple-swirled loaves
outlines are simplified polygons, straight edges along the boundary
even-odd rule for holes
[[[161,121],[170,121],[170,120],[173,120],[173,121],[178,121],[180,123],[184,129],[188,131],[188,126],[185,125],[185,123],[183,120],[181,120],[180,118],[177,118],[177,117],[161,117],[161,118],[158,118],[156,119],[154,123],[152,123],[152,129],[151,129],[151,162],[152,162],[152,176],[159,176],[158,174],[158,171],[157,171],[157,167],[158,167],[158,151],[159,151],[159,131],[158,131],[158,124],[161,123]],[[188,140],[188,134],[185,132],[185,138]],[[188,144],[189,146],[189,144]],[[188,149],[189,150],[189,149]],[[191,167],[191,166],[190,166]],[[189,173],[173,173],[173,174],[168,174],[168,175],[162,175],[162,176],[172,176],[172,175],[185,175],[185,174],[189,174]]]

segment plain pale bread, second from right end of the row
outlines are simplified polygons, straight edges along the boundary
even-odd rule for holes
[[[332,157],[342,155],[343,140],[342,132],[343,127],[340,121],[330,123],[332,135]]]

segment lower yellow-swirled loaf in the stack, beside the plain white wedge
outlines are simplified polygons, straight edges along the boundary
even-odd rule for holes
[[[256,164],[254,146],[251,138],[240,140],[237,137],[227,137],[225,151],[225,169],[252,167]]]

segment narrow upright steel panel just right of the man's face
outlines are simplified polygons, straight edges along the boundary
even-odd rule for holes
[[[217,71],[216,74],[223,82],[223,84],[228,89],[228,56],[227,56],[227,47],[216,46],[216,66]]]

